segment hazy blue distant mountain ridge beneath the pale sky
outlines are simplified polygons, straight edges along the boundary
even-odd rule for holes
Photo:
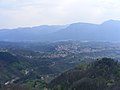
[[[73,23],[70,25],[43,25],[32,28],[1,29],[0,41],[119,41],[120,21],[102,24]]]

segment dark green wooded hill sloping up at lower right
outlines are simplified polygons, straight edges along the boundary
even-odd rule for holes
[[[53,87],[53,90],[114,90],[115,87],[119,88],[119,81],[119,62],[103,58],[91,63],[82,63],[79,67],[61,74],[49,86]],[[58,89],[58,86],[62,89]]]

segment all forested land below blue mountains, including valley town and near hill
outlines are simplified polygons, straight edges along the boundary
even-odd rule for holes
[[[119,86],[119,60],[119,43],[0,42],[0,89],[113,89]]]

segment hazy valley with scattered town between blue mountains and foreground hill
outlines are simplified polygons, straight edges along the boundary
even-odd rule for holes
[[[54,78],[80,63],[104,57],[120,60],[120,44],[112,42],[1,42],[1,87],[45,89]],[[11,86],[12,87],[12,86]]]

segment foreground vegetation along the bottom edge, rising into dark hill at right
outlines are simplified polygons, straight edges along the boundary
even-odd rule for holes
[[[49,84],[41,80],[11,84],[0,90],[120,90],[120,63],[102,58],[62,73]]]

